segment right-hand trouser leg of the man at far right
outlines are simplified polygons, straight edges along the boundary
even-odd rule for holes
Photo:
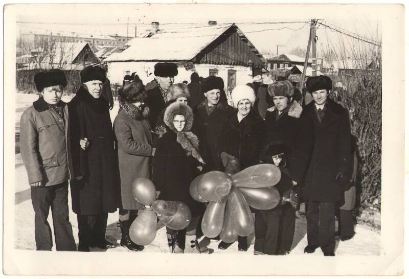
[[[324,253],[335,250],[335,203],[320,202],[320,246]]]

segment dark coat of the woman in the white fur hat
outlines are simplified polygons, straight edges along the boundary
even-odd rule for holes
[[[237,109],[229,115],[219,137],[219,156],[226,152],[239,159],[243,170],[259,164],[264,136],[264,120],[251,111],[241,122]]]

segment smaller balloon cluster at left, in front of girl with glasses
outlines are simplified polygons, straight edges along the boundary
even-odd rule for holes
[[[156,200],[156,189],[148,178],[136,178],[132,183],[132,195],[135,200],[145,205],[145,210],[138,212],[138,217],[129,228],[129,237],[139,245],[148,245],[156,237],[157,218],[165,226],[179,230],[186,228],[192,214],[189,207],[179,201]]]

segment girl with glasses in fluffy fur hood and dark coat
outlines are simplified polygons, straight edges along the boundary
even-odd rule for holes
[[[153,158],[153,183],[159,199],[186,203],[192,218],[203,211],[203,204],[190,196],[189,186],[205,164],[198,153],[199,141],[190,129],[193,111],[184,102],[170,104],[164,113],[166,133],[158,140]],[[168,245],[173,253],[184,252],[186,228],[166,228]]]

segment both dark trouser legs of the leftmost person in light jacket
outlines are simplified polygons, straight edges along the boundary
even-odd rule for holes
[[[51,207],[57,251],[76,251],[73,228],[68,216],[68,181],[47,187],[30,188],[35,212],[34,230],[37,250],[51,250],[53,247],[53,236],[47,221]]]

